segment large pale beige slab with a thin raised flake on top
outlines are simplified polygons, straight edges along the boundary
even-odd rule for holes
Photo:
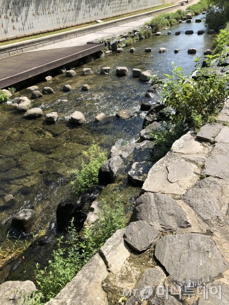
[[[169,151],[151,168],[142,191],[170,194],[178,199],[194,186],[199,174],[200,170],[195,164]]]

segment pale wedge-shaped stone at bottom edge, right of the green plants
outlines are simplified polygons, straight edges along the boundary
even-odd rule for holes
[[[101,285],[107,275],[106,265],[97,253],[46,305],[108,305],[106,293]]]

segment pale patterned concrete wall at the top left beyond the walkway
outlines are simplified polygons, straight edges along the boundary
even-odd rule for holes
[[[144,10],[174,0],[0,0],[0,38]]]

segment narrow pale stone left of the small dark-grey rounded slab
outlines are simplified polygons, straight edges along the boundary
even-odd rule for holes
[[[99,250],[109,272],[117,273],[122,268],[125,260],[130,256],[130,249],[123,239],[126,229],[118,230],[107,239]]]

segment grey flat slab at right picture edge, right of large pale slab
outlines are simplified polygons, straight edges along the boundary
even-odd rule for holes
[[[221,179],[229,178],[229,144],[216,143],[205,163],[202,174]]]

